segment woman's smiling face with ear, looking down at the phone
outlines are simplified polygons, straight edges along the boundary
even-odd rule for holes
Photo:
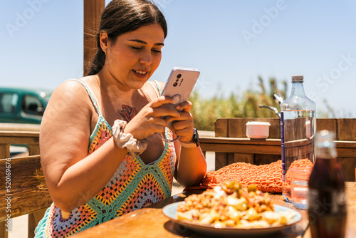
[[[162,58],[164,42],[162,26],[159,24],[141,26],[135,31],[118,36],[114,43],[108,41],[107,37],[106,33],[100,34],[102,48],[107,53],[104,67],[124,86],[142,88],[156,71]]]

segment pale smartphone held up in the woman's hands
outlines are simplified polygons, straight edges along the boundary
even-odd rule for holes
[[[162,95],[172,97],[173,105],[186,102],[197,83],[199,74],[197,68],[172,68]]]

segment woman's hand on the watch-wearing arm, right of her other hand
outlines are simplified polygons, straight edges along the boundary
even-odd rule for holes
[[[192,103],[187,101],[184,103],[179,103],[175,106],[177,110],[179,110],[180,117],[167,118],[167,123],[173,121],[172,130],[177,136],[180,136],[179,140],[182,142],[192,142],[193,141],[193,116],[190,113],[192,109]]]

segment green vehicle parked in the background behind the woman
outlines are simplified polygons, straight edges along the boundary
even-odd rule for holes
[[[40,124],[51,90],[0,88],[0,123]]]

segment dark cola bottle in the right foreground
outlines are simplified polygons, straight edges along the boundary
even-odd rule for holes
[[[334,135],[328,130],[316,137],[316,159],[308,182],[308,217],[313,238],[345,237],[345,182],[333,140]]]

